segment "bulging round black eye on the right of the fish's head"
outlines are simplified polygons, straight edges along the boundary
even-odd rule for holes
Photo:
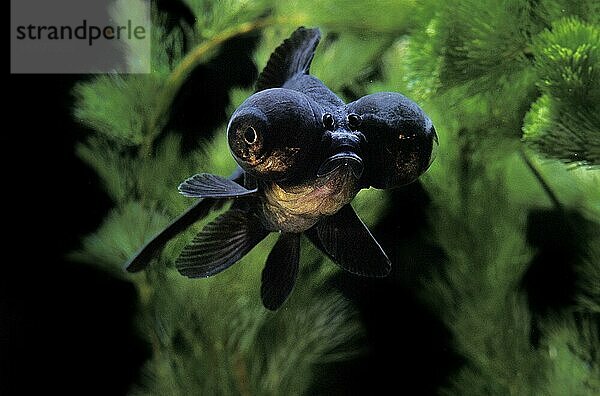
[[[346,106],[348,125],[362,134],[363,183],[393,188],[419,178],[435,159],[438,137],[425,112],[394,92],[380,92]]]

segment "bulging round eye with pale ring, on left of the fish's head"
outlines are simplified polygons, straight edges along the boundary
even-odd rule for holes
[[[306,174],[321,139],[318,106],[303,93],[271,88],[250,96],[227,127],[236,162],[259,179]]]

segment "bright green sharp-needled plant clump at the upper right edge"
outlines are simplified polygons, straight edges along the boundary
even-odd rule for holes
[[[525,119],[524,139],[565,162],[600,165],[600,27],[563,18],[533,43],[544,92]]]

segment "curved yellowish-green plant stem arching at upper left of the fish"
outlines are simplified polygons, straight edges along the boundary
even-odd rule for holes
[[[266,26],[285,22],[290,22],[290,19],[283,17],[265,17],[251,22],[244,22],[229,29],[225,29],[209,40],[194,47],[173,69],[167,79],[165,87],[162,92],[159,93],[156,111],[148,121],[147,131],[140,148],[140,156],[146,157],[152,155],[152,146],[156,138],[162,132],[166,123],[165,120],[169,114],[169,109],[171,108],[177,92],[179,92],[179,89],[185,83],[194,68],[202,63],[213,50],[236,36],[250,33]]]

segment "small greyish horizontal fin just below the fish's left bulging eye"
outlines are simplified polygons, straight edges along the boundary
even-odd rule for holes
[[[179,192],[191,198],[237,198],[254,194],[231,179],[210,173],[200,173],[187,178],[178,187]]]

